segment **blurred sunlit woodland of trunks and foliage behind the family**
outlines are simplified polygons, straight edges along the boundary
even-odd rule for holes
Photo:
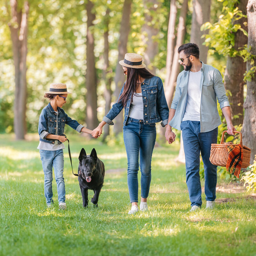
[[[54,82],[72,92],[68,115],[95,128],[125,81],[118,61],[126,52],[143,55],[163,79],[170,106],[182,71],[177,49],[194,42],[200,59],[225,78],[233,122],[246,123],[244,143],[256,154],[255,2],[0,0],[0,132],[17,139],[36,132]],[[121,132],[122,120],[105,126],[104,136]]]

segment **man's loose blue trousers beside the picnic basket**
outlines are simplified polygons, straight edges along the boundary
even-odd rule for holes
[[[186,159],[186,182],[191,206],[202,205],[199,176],[200,151],[204,163],[204,193],[207,201],[216,198],[217,166],[210,158],[211,144],[217,143],[218,127],[210,132],[200,132],[199,121],[183,121],[180,125]]]

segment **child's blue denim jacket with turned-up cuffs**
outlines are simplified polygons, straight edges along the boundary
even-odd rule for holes
[[[82,124],[79,124],[76,120],[72,120],[62,108],[57,107],[58,109],[58,133],[61,135],[64,133],[65,124],[68,124],[77,132],[81,132],[81,129],[84,127]],[[38,123],[38,133],[40,136],[40,141],[47,143],[54,143],[54,140],[46,139],[48,134],[56,134],[57,127],[57,113],[53,110],[51,104],[49,103],[45,108],[43,108]],[[59,144],[62,142],[58,141]]]

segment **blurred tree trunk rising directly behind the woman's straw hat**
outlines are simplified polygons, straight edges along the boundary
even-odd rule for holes
[[[144,9],[149,10],[150,12],[156,12],[157,6],[159,5],[158,0],[143,0]],[[144,45],[147,45],[145,54],[144,54],[144,63],[146,64],[146,68],[152,73],[156,74],[156,67],[153,64],[154,58],[158,52],[158,44],[154,39],[154,36],[157,36],[159,33],[159,28],[152,25],[153,16],[150,12],[145,13],[145,24],[142,26],[142,32],[146,32],[147,36],[144,36],[142,33],[142,41]]]

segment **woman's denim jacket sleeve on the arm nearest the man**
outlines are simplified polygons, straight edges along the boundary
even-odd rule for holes
[[[164,85],[162,79],[159,77],[157,81],[157,109],[163,122],[161,125],[164,127],[168,123],[169,108],[164,95]]]

